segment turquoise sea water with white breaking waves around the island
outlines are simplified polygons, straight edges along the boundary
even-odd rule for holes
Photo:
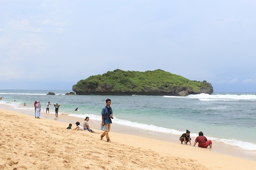
[[[57,95],[46,95],[49,91]],[[213,142],[218,141],[240,150],[256,151],[256,92],[214,93],[186,97],[175,96],[104,96],[64,95],[69,90],[0,90],[0,104],[33,111],[39,100],[45,112],[47,102],[60,104],[59,114],[101,120],[105,99],[112,100],[114,125],[136,128],[143,133],[162,136],[181,135],[188,129],[192,138],[203,131]],[[60,95],[58,95],[60,94]],[[14,100],[16,102],[14,102]],[[28,106],[24,107],[26,103]],[[79,111],[74,111],[78,107]],[[194,140],[192,140],[194,141]]]

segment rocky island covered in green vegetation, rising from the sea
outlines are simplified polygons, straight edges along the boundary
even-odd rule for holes
[[[157,69],[154,71],[123,71],[115,69],[103,75],[90,76],[73,85],[77,95],[175,95],[186,96],[214,92],[205,80],[191,81],[182,76]]]

